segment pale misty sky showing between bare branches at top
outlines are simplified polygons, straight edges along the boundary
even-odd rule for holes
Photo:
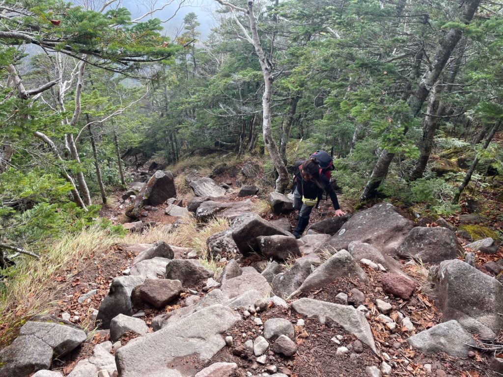
[[[170,20],[169,22],[164,24],[164,28],[166,29],[167,35],[170,37],[174,37],[177,33],[177,30],[181,28],[183,19],[187,13],[194,12],[197,15],[198,21],[201,24],[199,27],[199,31],[201,32],[201,39],[206,39],[211,28],[216,26],[215,21],[212,18],[211,12],[212,10],[217,8],[217,4],[214,0],[189,0],[191,5],[185,6],[181,8],[177,15]],[[129,9],[132,13],[132,18],[139,17],[145,14],[147,8],[142,0],[124,0],[124,7]],[[157,1],[157,7],[165,4],[163,0]],[[157,17],[161,20],[166,20],[167,18],[173,16],[173,13],[178,8],[178,2],[175,1],[174,4],[169,7],[164,8],[162,11],[157,12],[154,17]]]

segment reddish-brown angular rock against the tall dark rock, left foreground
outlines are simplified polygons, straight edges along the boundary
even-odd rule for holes
[[[170,279],[145,279],[136,289],[140,299],[155,308],[165,307],[183,292],[181,281]]]

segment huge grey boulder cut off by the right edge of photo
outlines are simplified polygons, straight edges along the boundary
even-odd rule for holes
[[[503,285],[459,259],[445,260],[430,273],[444,320],[494,339],[503,328]]]

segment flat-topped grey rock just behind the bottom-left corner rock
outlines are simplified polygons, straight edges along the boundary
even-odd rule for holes
[[[52,322],[28,321],[21,327],[19,334],[42,340],[53,349],[54,357],[70,353],[87,338],[86,333],[79,328]]]

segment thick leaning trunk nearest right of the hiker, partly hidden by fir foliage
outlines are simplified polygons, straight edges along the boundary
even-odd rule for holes
[[[477,10],[479,4],[480,0],[463,1],[461,4],[461,21],[465,24],[468,24],[473,18],[473,15],[475,14],[475,11]],[[411,117],[415,117],[421,111],[428,93],[430,92],[435,82],[437,82],[440,74],[442,73],[442,70],[447,63],[447,60],[451,56],[454,48],[456,47],[456,44],[461,39],[461,35],[462,32],[459,28],[452,28],[447,32],[443,40],[440,42],[440,45],[435,51],[435,54],[431,58],[432,65],[424,74],[423,78],[417,85],[415,92],[412,94],[412,96],[409,97],[407,101],[409,106],[409,115]],[[404,133],[407,133],[407,131],[408,127],[405,126]],[[360,201],[365,201],[375,197],[377,188],[388,174],[389,165],[393,160],[393,156],[394,153],[385,150],[381,153],[374,169],[372,170],[370,179],[367,182],[362,195],[360,196]]]

